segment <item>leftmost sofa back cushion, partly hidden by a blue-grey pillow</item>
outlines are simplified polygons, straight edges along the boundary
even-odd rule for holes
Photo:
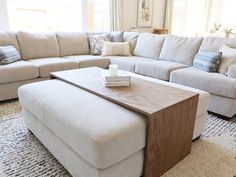
[[[16,38],[16,34],[12,31],[0,32],[0,46],[13,45],[18,52],[20,47]]]

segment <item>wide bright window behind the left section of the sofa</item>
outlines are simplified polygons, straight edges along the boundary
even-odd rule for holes
[[[109,0],[7,0],[11,30],[109,30]]]

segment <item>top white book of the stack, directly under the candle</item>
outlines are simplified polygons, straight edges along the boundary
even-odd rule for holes
[[[118,71],[117,76],[111,76],[109,71],[101,71],[101,77],[105,82],[130,81],[130,76],[124,71]]]

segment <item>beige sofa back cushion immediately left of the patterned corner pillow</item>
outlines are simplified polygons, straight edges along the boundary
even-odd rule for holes
[[[60,56],[88,55],[88,36],[85,32],[57,32]]]

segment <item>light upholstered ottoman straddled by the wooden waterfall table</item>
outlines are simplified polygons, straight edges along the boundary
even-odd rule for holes
[[[27,127],[73,176],[142,175],[142,115],[59,80],[25,85],[18,93]],[[201,92],[199,102],[205,120],[209,95]],[[197,137],[204,124],[195,127]]]

